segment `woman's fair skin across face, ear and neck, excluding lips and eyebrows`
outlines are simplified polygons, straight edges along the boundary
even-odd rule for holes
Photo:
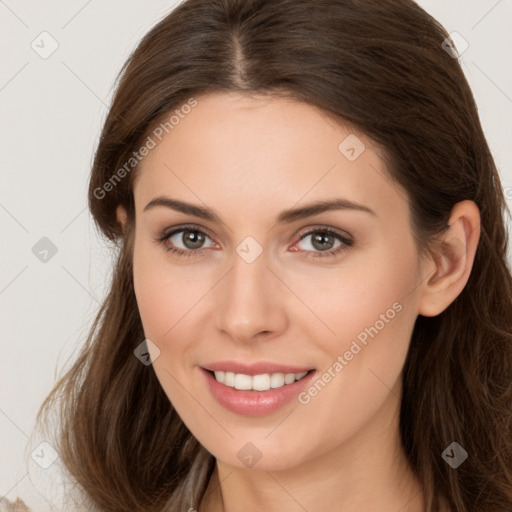
[[[416,249],[406,192],[379,148],[311,105],[234,93],[198,105],[142,161],[134,184],[134,286],[153,367],[181,418],[217,459],[200,512],[423,511],[422,491],[398,442],[401,372],[418,314],[441,313],[464,288],[479,238],[479,212],[457,204],[435,257]],[[349,161],[339,144],[356,134],[366,150]],[[382,153],[380,153],[382,154]],[[166,207],[156,196],[208,207],[216,223]],[[327,211],[290,224],[285,209],[343,197],[374,215]],[[118,208],[124,226],[126,212]],[[180,257],[155,242],[183,224],[206,231],[203,254]],[[313,258],[313,228],[353,240]],[[173,236],[184,245],[183,232]],[[262,249],[247,263],[237,246]],[[339,247],[337,238],[329,248]],[[198,365],[270,360],[323,374],[357,335],[402,309],[303,405],[261,417],[224,409]],[[261,459],[237,457],[251,442]],[[198,504],[190,504],[197,507]]]

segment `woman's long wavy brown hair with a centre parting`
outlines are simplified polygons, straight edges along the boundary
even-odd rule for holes
[[[307,102],[378,142],[390,179],[408,193],[420,251],[433,250],[457,202],[479,207],[466,287],[442,314],[417,318],[400,435],[426,510],[512,510],[507,208],[469,85],[442,47],[447,37],[412,0],[187,0],[142,39],[120,74],[90,178],[90,210],[116,249],[110,291],[38,416],[43,423],[58,407],[54,442],[91,505],[198,508],[214,469],[151,366],[134,356],[144,332],[132,279],[137,166],[127,162],[175,109],[237,91]],[[128,211],[125,232],[118,205]],[[457,469],[441,456],[454,441],[469,454]]]

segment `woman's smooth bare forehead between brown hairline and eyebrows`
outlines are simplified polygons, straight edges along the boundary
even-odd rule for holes
[[[236,211],[229,213],[242,216],[338,197],[375,211],[406,206],[381,149],[322,109],[238,93],[196,100],[193,108],[173,110],[173,123],[157,132],[161,140],[152,135],[155,147],[134,185],[138,210],[162,194],[216,209],[232,206]]]

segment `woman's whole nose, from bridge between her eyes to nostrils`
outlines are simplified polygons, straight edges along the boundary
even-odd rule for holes
[[[247,237],[236,247],[231,270],[223,280],[218,327],[238,340],[283,326],[276,278],[267,264],[263,247]]]

